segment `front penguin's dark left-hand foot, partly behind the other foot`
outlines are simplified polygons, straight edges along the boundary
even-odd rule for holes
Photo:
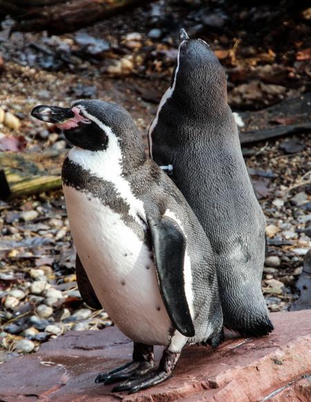
[[[95,383],[104,383],[105,385],[115,383],[146,374],[154,367],[153,346],[134,342],[133,361],[129,361],[120,367],[109,372],[100,373],[95,378]]]

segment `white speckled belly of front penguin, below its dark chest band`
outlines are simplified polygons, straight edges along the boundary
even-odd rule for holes
[[[151,250],[100,199],[63,188],[77,254],[104,309],[133,341],[167,346],[171,320]]]

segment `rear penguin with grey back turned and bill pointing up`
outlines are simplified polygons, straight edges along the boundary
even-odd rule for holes
[[[272,332],[261,291],[265,217],[227,104],[225,70],[209,45],[184,29],[171,85],[149,128],[149,152],[211,242],[225,327],[243,336]]]

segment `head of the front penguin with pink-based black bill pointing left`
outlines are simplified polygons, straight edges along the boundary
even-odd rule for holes
[[[109,151],[113,143],[117,143],[122,154],[130,152],[135,157],[144,153],[142,138],[131,114],[115,103],[80,100],[71,108],[39,105],[31,114],[39,120],[55,123],[78,148]]]

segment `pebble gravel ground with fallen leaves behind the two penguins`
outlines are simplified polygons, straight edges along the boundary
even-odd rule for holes
[[[310,89],[310,61],[303,56],[311,46],[308,13],[274,6],[240,10],[221,1],[202,8],[203,3],[158,1],[59,37],[46,32],[8,37],[11,21],[3,21],[0,150],[66,150],[62,133],[54,125],[44,128],[29,112],[39,103],[68,105],[85,97],[124,105],[146,141],[176,58],[176,21],[216,50],[234,110],[257,110]],[[288,310],[299,297],[295,284],[311,237],[310,150],[311,136],[303,134],[245,152],[252,155],[246,163],[267,219],[262,285],[271,311]],[[106,312],[88,308],[77,290],[60,190],[1,201],[0,230],[0,362],[36,351],[67,330],[112,325]]]

